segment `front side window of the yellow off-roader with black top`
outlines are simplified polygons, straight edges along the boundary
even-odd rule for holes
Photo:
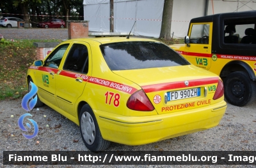
[[[209,24],[194,24],[189,43],[209,44]]]

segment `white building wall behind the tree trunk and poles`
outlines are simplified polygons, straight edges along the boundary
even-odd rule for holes
[[[204,16],[205,0],[173,0],[171,33],[184,38],[191,18]],[[109,32],[109,0],[84,0],[89,31]],[[212,8],[213,4],[213,8]],[[114,0],[114,31],[159,38],[164,0]],[[256,0],[209,0],[208,15],[256,10]]]

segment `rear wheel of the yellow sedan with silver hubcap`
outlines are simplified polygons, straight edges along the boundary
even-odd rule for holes
[[[85,104],[79,113],[79,127],[83,142],[90,151],[106,150],[110,144],[102,138],[92,108]]]

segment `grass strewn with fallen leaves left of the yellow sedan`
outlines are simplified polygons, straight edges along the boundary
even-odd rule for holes
[[[61,42],[61,40],[22,39],[0,42],[0,100],[17,99],[28,92],[26,73],[36,60],[34,42]]]

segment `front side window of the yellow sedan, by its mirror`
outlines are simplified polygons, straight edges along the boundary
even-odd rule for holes
[[[49,57],[45,60],[44,66],[58,68],[60,66],[61,59],[66,52],[69,44],[61,45],[56,48]]]

